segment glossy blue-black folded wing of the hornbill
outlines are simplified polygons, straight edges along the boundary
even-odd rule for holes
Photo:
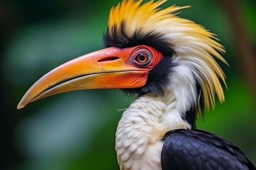
[[[172,130],[163,140],[162,170],[256,170],[240,148],[209,132]]]

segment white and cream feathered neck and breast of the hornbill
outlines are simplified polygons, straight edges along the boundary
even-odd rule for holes
[[[183,118],[198,96],[191,70],[182,65],[173,68],[171,85],[164,97],[140,96],[124,111],[115,146],[121,170],[161,170],[164,134],[191,128]]]

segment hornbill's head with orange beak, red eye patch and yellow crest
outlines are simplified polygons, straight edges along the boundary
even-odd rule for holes
[[[110,10],[105,49],[70,60],[38,79],[17,108],[67,91],[121,88],[129,94],[183,96],[185,110],[202,112],[224,95],[225,74],[216,58],[227,64],[216,35],[177,16],[189,6],[159,8],[166,0],[141,3],[123,0]],[[184,101],[186,100],[186,101]],[[180,102],[180,105],[182,105]],[[182,107],[182,106],[181,106]]]

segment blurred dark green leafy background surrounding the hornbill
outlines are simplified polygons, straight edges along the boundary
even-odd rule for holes
[[[115,130],[133,97],[118,90],[63,93],[16,106],[52,68],[102,48],[108,12],[119,0],[0,1],[0,169],[118,170]],[[169,0],[179,15],[216,33],[229,66],[225,103],[200,129],[238,145],[256,163],[256,1]]]

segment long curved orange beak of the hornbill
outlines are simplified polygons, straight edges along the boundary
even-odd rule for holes
[[[144,86],[148,69],[133,66],[129,60],[135,48],[109,47],[82,55],[54,68],[29,88],[17,108],[67,91]]]

